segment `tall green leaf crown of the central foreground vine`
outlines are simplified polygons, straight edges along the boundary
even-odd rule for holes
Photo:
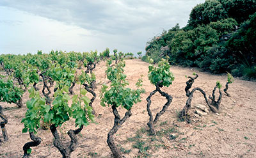
[[[140,87],[142,86],[142,80],[139,79],[136,83],[137,89],[131,90],[131,88],[125,88],[129,83],[125,80],[126,75],[124,73],[125,62],[120,61],[116,65],[110,66],[111,60],[107,62],[106,74],[111,81],[111,85],[108,87],[106,84],[102,85],[100,98],[100,104],[106,106],[122,106],[125,109],[131,109],[133,104],[140,102],[140,95],[144,92]],[[109,89],[108,89],[109,88]]]

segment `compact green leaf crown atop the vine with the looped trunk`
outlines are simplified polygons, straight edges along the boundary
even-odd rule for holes
[[[159,86],[170,86],[172,81],[174,80],[174,76],[172,72],[170,72],[170,65],[166,59],[161,59],[158,63],[158,67],[154,67],[152,65],[152,60],[150,65],[148,66],[148,79],[150,83],[155,86],[159,84]]]

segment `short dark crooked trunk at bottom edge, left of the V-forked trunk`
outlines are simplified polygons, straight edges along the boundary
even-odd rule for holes
[[[29,132],[29,136],[32,141],[29,141],[23,146],[23,151],[24,151],[23,158],[28,158],[31,153],[31,147],[40,145],[42,141],[40,137],[35,136],[34,132]]]

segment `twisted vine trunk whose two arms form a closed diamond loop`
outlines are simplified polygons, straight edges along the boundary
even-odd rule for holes
[[[153,115],[152,115],[152,112],[150,110],[150,105],[151,105],[151,97],[156,93],[156,92],[159,92],[163,97],[166,98],[167,102],[166,104],[164,104],[163,106],[163,109],[161,111],[159,111],[159,113],[156,114],[156,117],[153,121]],[[160,90],[160,86],[159,84],[156,84],[156,90],[152,91],[150,93],[150,95],[147,97],[147,111],[148,111],[148,116],[149,116],[149,122],[147,123],[148,127],[149,127],[149,130],[150,130],[150,134],[151,135],[156,135],[156,131],[154,129],[154,124],[157,123],[159,117],[161,115],[163,115],[163,113],[166,111],[166,109],[170,106],[171,102],[172,102],[172,96],[171,95],[168,95],[168,93],[165,93],[163,91]]]

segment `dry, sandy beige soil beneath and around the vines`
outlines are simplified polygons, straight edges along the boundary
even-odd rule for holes
[[[173,97],[166,113],[160,117],[156,125],[157,136],[148,135],[147,101],[149,93],[155,89],[147,77],[148,63],[140,59],[126,60],[125,74],[130,88],[136,88],[135,83],[143,76],[143,88],[146,93],[141,102],[132,107],[132,116],[125,122],[115,135],[118,148],[125,157],[256,157],[256,83],[235,78],[229,86],[231,98],[223,95],[218,115],[209,113],[207,116],[193,118],[193,122],[179,122],[177,113],[186,104],[184,88],[193,72],[199,75],[193,87],[200,87],[207,96],[212,93],[216,81],[225,85],[227,75],[214,75],[199,72],[195,68],[170,68],[175,75],[171,86],[162,88]],[[114,116],[110,107],[100,106],[99,91],[102,83],[108,83],[105,75],[106,66],[101,62],[95,68],[97,77],[97,99],[93,107],[97,112],[95,123],[84,127],[79,134],[79,145],[71,157],[111,157],[111,151],[106,143],[107,134],[113,127]],[[42,87],[42,83],[41,87]],[[193,88],[192,87],[192,88]],[[78,90],[77,87],[74,90]],[[223,88],[222,88],[223,90]],[[26,105],[28,92],[24,94]],[[156,115],[166,100],[156,93],[152,97],[151,109]],[[204,104],[199,92],[194,95],[192,106]],[[0,143],[0,157],[22,157],[22,146],[30,141],[28,133],[22,133],[20,123],[26,113],[26,106],[18,109],[15,104],[1,103],[4,114],[8,118],[6,129],[9,134],[8,142]],[[125,109],[118,108],[124,116]],[[193,109],[191,110],[193,112]],[[58,128],[63,141],[68,141],[67,130],[74,127],[74,120]],[[50,130],[38,131],[42,138],[39,146],[32,148],[31,157],[61,157],[60,152],[52,145],[53,136]],[[2,135],[0,134],[0,138]]]

